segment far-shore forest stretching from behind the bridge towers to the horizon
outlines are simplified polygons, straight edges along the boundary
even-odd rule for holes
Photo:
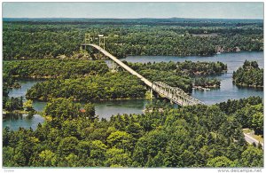
[[[4,59],[73,57],[85,33],[106,35],[106,51],[119,58],[263,50],[262,20],[4,19]]]

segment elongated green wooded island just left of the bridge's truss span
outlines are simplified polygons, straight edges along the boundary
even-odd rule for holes
[[[128,72],[107,73],[77,79],[36,83],[27,90],[30,99],[74,98],[90,101],[115,98],[145,98],[145,84]]]

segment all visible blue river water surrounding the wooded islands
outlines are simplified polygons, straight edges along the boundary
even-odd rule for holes
[[[239,88],[232,84],[232,72],[237,70],[243,65],[244,61],[255,60],[260,67],[263,67],[263,52],[238,52],[238,53],[222,53],[214,57],[171,57],[171,56],[129,56],[122,60],[129,62],[161,62],[161,61],[174,61],[183,62],[184,60],[192,61],[221,61],[228,66],[228,73],[224,75],[215,76],[221,80],[221,88],[218,90],[193,90],[192,96],[199,98],[207,105],[215,104],[218,102],[226,101],[227,99],[247,98],[249,96],[263,97],[263,90]],[[23,81],[21,82],[20,89],[12,89],[9,93],[10,97],[24,97],[27,90],[30,89],[35,83],[40,81]],[[149,101],[146,99],[130,99],[130,100],[113,100],[113,101],[100,101],[95,103],[96,114],[99,118],[108,119],[112,114],[142,114],[145,105]],[[42,111],[46,102],[35,101],[34,108],[36,111]],[[34,130],[37,124],[42,123],[43,117],[36,114],[32,119],[28,119],[26,114],[9,115],[6,116],[3,122],[3,127],[9,126],[12,130],[17,130],[19,127],[29,128]]]

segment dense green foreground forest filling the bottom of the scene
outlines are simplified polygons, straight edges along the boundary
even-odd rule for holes
[[[91,104],[52,99],[36,130],[3,131],[4,167],[262,167],[262,146],[247,145],[237,114],[262,98],[214,106],[157,106],[146,114],[98,120]],[[245,114],[252,118],[252,114]]]

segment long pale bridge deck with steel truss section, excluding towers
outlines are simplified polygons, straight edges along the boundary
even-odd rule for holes
[[[169,98],[170,101],[172,101],[172,102],[174,102],[174,103],[176,103],[176,104],[178,104],[180,106],[190,106],[190,105],[198,105],[198,104],[202,104],[203,105],[204,104],[199,99],[192,98],[190,95],[186,94],[184,92],[184,90],[181,90],[181,89],[179,89],[177,87],[171,87],[171,86],[168,86],[167,84],[161,83],[161,82],[151,83],[144,76],[139,75],[132,68],[128,67],[123,62],[121,62],[121,60],[115,58],[111,53],[109,53],[108,51],[104,50],[103,48],[101,48],[100,46],[98,46],[96,44],[93,44],[93,43],[83,43],[82,45],[83,46],[89,45],[91,47],[94,47],[98,51],[104,53],[106,55],[106,57],[109,57],[110,59],[112,59],[116,64],[118,64],[119,66],[123,67],[130,74],[137,75],[137,77],[141,81],[143,81],[151,89],[153,89],[154,91],[156,91],[157,93],[159,93],[160,96]]]

